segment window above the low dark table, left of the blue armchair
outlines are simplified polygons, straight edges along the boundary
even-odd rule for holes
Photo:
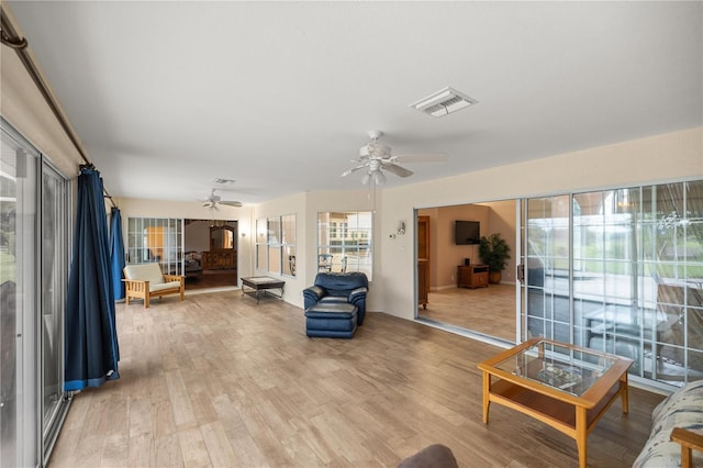
[[[295,276],[295,215],[256,220],[256,268]]]

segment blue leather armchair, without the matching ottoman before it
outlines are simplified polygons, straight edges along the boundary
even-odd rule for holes
[[[361,325],[368,290],[369,280],[360,271],[319,272],[315,285],[303,290],[305,310],[319,302],[348,302],[357,307],[357,325]]]

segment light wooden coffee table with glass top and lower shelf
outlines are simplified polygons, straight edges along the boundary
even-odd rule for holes
[[[627,413],[627,369],[633,360],[544,338],[532,338],[479,364],[483,423],[491,402],[512,408],[576,439],[579,466],[587,437],[621,397]]]

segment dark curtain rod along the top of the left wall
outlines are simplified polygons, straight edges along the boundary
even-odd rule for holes
[[[20,60],[24,65],[24,68],[30,74],[30,77],[32,77],[32,80],[34,81],[37,89],[44,97],[44,100],[48,104],[49,109],[58,120],[58,123],[60,124],[62,129],[64,130],[64,132],[66,132],[66,135],[68,136],[70,142],[74,144],[76,149],[78,151],[78,154],[80,155],[81,159],[86,163],[86,165],[92,166],[93,164],[88,158],[88,155],[86,155],[86,152],[80,145],[78,137],[76,137],[76,134],[74,133],[72,129],[68,124],[68,120],[64,116],[64,113],[62,112],[60,108],[56,103],[56,100],[52,96],[51,91],[48,90],[48,87],[46,86],[46,83],[44,82],[44,79],[42,78],[42,75],[36,68],[36,65],[34,65],[32,57],[27,53],[26,47],[29,43],[26,38],[20,37],[18,35],[4,9],[0,9],[0,41],[2,42],[2,44],[7,45],[8,47],[16,52],[18,57],[20,57]],[[114,201],[112,201],[112,197],[110,196],[110,193],[108,193],[104,187],[102,188],[102,191],[105,194],[105,198],[110,199],[110,203],[112,203],[112,207],[118,208],[116,204],[114,204]]]

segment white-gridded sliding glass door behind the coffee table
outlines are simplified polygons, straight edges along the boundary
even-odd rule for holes
[[[522,338],[631,357],[631,374],[703,378],[703,181],[522,203]]]

